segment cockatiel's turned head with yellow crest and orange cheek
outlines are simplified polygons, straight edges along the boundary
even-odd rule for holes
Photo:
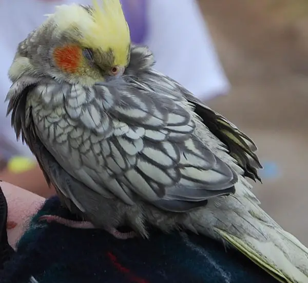
[[[47,75],[91,85],[121,76],[129,56],[130,34],[120,1],[93,0],[91,7],[57,6],[20,43],[9,75],[12,80]]]

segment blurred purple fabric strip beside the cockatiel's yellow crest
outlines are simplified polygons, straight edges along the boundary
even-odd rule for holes
[[[131,41],[143,43],[147,31],[147,0],[121,0],[122,8],[130,30]]]

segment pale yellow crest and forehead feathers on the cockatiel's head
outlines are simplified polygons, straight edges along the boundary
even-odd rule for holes
[[[85,48],[111,50],[115,65],[127,64],[130,34],[119,0],[93,0],[90,13],[78,4],[57,6],[51,17],[62,31],[78,30]]]

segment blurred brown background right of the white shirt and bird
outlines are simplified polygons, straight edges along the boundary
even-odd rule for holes
[[[259,148],[262,207],[308,245],[308,5],[200,0],[231,84],[207,104]]]

